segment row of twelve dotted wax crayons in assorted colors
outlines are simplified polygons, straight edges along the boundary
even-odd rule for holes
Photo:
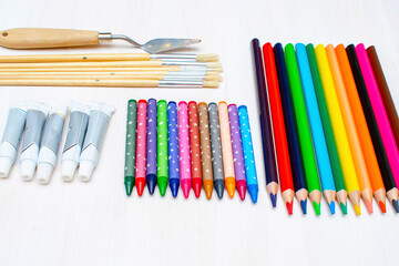
[[[162,196],[170,185],[184,197],[193,187],[200,197],[204,187],[211,200],[215,187],[223,197],[237,190],[242,201],[248,191],[257,202],[258,183],[247,108],[226,102],[166,103],[165,100],[130,100],[127,103],[124,184],[142,196],[145,184],[150,194],[157,184]]]

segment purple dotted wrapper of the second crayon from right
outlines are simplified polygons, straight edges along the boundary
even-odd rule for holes
[[[236,181],[246,181],[237,105],[235,104],[228,105],[228,119],[231,125],[235,177]]]

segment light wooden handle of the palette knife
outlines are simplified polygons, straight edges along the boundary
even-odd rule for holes
[[[11,49],[40,49],[99,44],[99,32],[84,30],[20,28],[0,32],[0,45]]]

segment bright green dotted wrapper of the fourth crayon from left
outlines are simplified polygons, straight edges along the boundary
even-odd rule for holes
[[[167,165],[167,104],[165,100],[157,105],[157,176],[168,176]]]

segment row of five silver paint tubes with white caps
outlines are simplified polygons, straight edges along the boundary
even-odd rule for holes
[[[90,181],[98,164],[101,142],[114,106],[93,102],[91,106],[72,102],[51,108],[41,102],[21,102],[10,106],[0,144],[0,177],[9,175],[23,134],[21,176],[48,184],[57,164],[65,117],[71,105],[68,135],[62,152],[62,178],[72,181],[79,166],[81,181]],[[23,133],[24,132],[24,133]]]

